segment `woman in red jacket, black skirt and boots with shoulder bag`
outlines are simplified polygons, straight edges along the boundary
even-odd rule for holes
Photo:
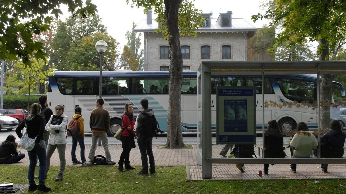
[[[135,169],[130,165],[129,157],[130,151],[132,148],[136,147],[135,139],[137,139],[137,135],[133,130],[135,125],[135,119],[133,118],[133,109],[130,103],[126,103],[125,111],[122,115],[122,127],[124,130],[121,133],[121,145],[122,152],[119,160],[119,171],[125,172],[123,165],[125,163],[125,169]],[[135,137],[135,139],[134,139]]]

